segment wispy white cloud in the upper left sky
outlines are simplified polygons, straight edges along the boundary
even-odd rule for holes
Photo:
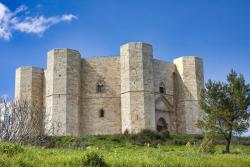
[[[22,5],[15,11],[11,11],[0,2],[0,38],[10,40],[14,31],[42,35],[52,25],[77,19],[73,14],[32,17],[24,15],[25,12],[28,12],[27,6]]]

